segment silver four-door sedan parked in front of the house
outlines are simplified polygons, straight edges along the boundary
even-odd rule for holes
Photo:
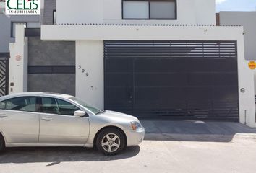
[[[143,141],[137,117],[47,92],[0,97],[0,151],[17,146],[97,146],[115,155]]]

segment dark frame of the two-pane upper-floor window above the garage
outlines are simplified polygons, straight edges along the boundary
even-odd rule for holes
[[[124,1],[148,1],[148,18],[124,18]],[[158,0],[121,0],[121,19],[122,20],[177,20],[177,0],[159,0],[158,2],[174,1],[175,3],[175,18],[150,18],[150,1],[157,2]]]

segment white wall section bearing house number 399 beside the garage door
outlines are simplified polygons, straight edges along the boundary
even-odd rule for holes
[[[76,67],[76,96],[103,109],[103,40],[76,41]]]

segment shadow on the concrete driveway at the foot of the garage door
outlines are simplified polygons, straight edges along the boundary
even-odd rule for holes
[[[142,120],[145,140],[231,142],[244,138],[256,141],[256,129],[233,122],[200,120]]]

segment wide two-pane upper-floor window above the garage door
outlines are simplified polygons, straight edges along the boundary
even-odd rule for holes
[[[123,19],[176,19],[176,0],[123,0]]]

